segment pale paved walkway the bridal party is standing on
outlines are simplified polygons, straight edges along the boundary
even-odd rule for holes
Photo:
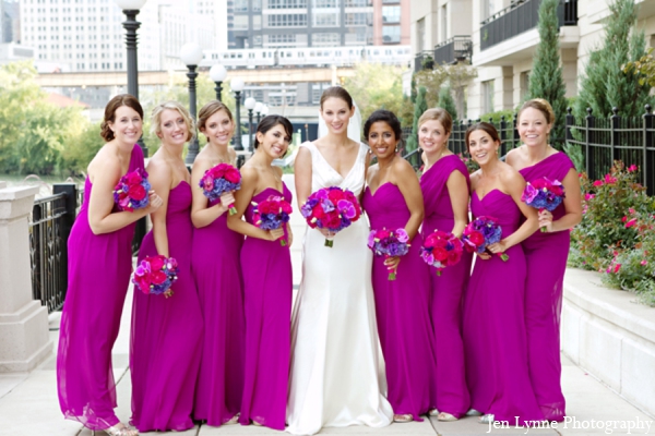
[[[287,177],[285,175],[285,179]],[[287,180],[289,189],[293,181]],[[295,242],[291,246],[294,283],[300,282],[301,244],[305,223],[299,214],[294,214],[293,229]],[[121,329],[114,347],[114,373],[118,382],[117,414],[121,421],[130,417],[130,376],[128,370],[129,327],[132,291],[128,294]],[[59,314],[50,316],[50,337],[57,349]],[[324,428],[321,434],[347,435],[605,435],[632,434],[655,435],[655,419],[632,407],[621,397],[573,365],[562,355],[562,385],[567,397],[568,422],[557,428],[489,428],[467,417],[454,423],[426,420],[421,423],[392,424],[385,428],[353,426],[346,428]],[[655,368],[654,368],[655,370]],[[59,410],[55,374],[55,355],[29,374],[0,374],[0,435],[4,436],[90,436],[80,424],[66,421]],[[655,395],[655,392],[653,392]],[[512,423],[510,423],[512,424]],[[651,424],[648,427],[647,424]],[[607,426],[611,426],[611,431]],[[620,426],[624,427],[621,429]],[[631,429],[628,429],[631,426]],[[616,428],[616,429],[615,429]],[[219,428],[206,425],[183,433],[162,435],[187,436],[229,436],[264,435],[279,432],[255,426],[228,425]]]

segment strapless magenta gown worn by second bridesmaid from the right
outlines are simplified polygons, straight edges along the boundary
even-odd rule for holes
[[[514,199],[492,190],[480,201],[471,198],[474,217],[498,219],[503,238],[519,228],[522,214]],[[510,247],[503,262],[476,258],[464,296],[463,337],[471,407],[514,425],[543,421],[527,375],[524,326],[525,256],[521,245]]]

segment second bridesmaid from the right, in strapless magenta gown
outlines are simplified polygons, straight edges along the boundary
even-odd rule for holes
[[[525,181],[498,158],[500,138],[493,125],[466,131],[466,146],[480,169],[471,175],[474,217],[498,219],[503,239],[493,254],[476,259],[464,298],[463,339],[472,407],[485,413],[480,423],[514,425],[543,421],[527,375],[524,330],[525,257],[521,242],[537,229],[537,213],[521,201]],[[519,225],[525,216],[523,225]],[[510,257],[500,258],[501,253]]]

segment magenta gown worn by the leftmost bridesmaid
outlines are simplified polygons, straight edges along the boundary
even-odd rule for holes
[[[128,172],[143,169],[141,147],[132,148]],[[68,291],[57,352],[57,388],[64,416],[97,431],[119,423],[111,348],[130,284],[134,223],[94,234],[88,225],[93,185],[84,182],[84,203],[68,241]]]

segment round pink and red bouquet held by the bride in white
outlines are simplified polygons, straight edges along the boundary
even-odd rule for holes
[[[338,232],[361,216],[361,206],[355,194],[337,186],[323,187],[313,192],[300,208],[300,214],[312,229],[326,229]],[[325,246],[334,241],[325,239]]]

